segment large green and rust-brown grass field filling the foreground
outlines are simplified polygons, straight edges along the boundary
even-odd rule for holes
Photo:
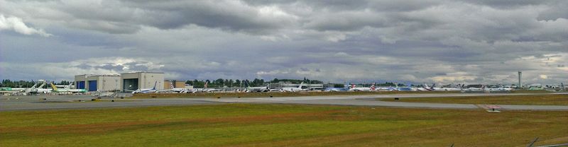
[[[0,146],[526,146],[568,113],[223,104],[0,112]]]

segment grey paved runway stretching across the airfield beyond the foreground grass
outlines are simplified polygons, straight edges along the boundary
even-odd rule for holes
[[[567,93],[557,93],[567,94]],[[279,103],[307,105],[358,105],[378,107],[415,107],[432,109],[482,109],[473,104],[444,104],[423,102],[385,102],[376,98],[428,98],[459,97],[475,95],[531,95],[523,93],[452,93],[452,94],[398,94],[398,95],[339,95],[280,98],[155,98],[155,99],[110,99],[102,98],[92,102],[88,95],[75,96],[9,96],[0,97],[0,111],[6,110],[48,110],[81,109],[94,107],[140,107],[159,105],[205,105],[215,103]],[[542,95],[542,94],[539,94]],[[17,98],[17,99],[16,99]],[[43,100],[43,98],[47,98]],[[78,102],[82,100],[84,102]],[[115,102],[111,102],[115,100]],[[500,110],[568,110],[568,105],[497,105]]]

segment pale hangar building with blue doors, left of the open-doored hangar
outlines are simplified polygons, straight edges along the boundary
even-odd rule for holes
[[[87,91],[120,90],[120,75],[83,74],[75,76],[75,88]]]

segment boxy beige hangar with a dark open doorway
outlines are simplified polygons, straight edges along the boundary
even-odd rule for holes
[[[157,90],[164,89],[164,73],[121,73],[120,78],[120,90],[124,92],[144,88],[153,88],[154,86]]]

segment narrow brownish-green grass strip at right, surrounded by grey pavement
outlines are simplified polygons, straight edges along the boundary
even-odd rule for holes
[[[447,98],[391,98],[392,102],[435,102],[457,104],[507,104],[507,105],[568,105],[568,95],[496,95]]]

